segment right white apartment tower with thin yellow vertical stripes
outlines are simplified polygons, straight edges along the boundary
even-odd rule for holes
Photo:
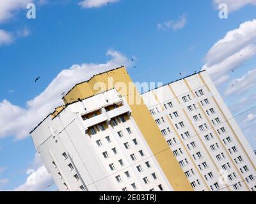
[[[195,191],[256,191],[253,150],[205,71],[142,98]]]

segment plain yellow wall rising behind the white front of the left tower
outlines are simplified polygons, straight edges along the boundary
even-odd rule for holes
[[[113,85],[109,83],[109,77],[113,77]],[[136,98],[140,99],[142,102],[143,100],[141,99],[140,93],[137,91],[124,67],[96,75],[88,82],[76,85],[76,87],[68,92],[63,101],[65,103],[72,103],[78,98],[88,98],[93,96],[93,94],[97,94],[97,91],[93,90],[93,86],[96,82],[103,82],[107,85],[106,88],[100,90],[99,92],[108,91],[109,89],[113,89],[115,87],[116,90],[126,98],[131,107],[133,119],[148,143],[148,146],[155,155],[157,162],[161,166],[174,191],[193,191],[193,188],[189,184],[187,177],[182,171],[182,168],[175,159],[172,150],[170,147],[168,147],[168,144],[166,143],[161,131],[159,131],[156,122],[148,111],[147,106],[143,103],[136,105],[134,102]],[[126,92],[127,90],[122,90],[120,87],[118,89],[118,82],[125,83],[127,87],[128,84],[130,84],[132,89],[129,90],[128,93]],[[132,99],[132,96],[134,99]],[[134,103],[132,103],[132,101]]]

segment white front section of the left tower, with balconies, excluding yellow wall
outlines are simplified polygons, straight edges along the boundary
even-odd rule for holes
[[[49,115],[31,135],[60,191],[173,191],[115,89]]]

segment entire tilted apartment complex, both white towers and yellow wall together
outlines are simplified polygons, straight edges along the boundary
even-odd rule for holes
[[[63,102],[31,131],[60,191],[256,191],[255,154],[205,72],[140,94],[120,67]]]

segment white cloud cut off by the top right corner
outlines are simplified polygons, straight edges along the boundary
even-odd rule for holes
[[[240,8],[243,8],[244,6],[251,4],[256,5],[256,0],[213,0],[214,4],[216,5],[216,8],[218,8],[218,5],[221,3],[225,3],[228,5],[228,11],[236,11]]]

